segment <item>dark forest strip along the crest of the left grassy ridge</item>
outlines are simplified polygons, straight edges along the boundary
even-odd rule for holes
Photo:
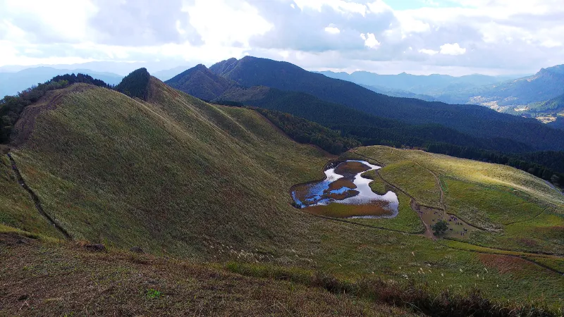
[[[42,84],[32,86],[16,96],[6,96],[0,100],[0,144],[7,143],[10,139],[13,125],[20,118],[23,109],[43,97],[50,90],[61,89],[76,82],[83,82],[99,87],[111,88],[102,80],[92,78],[85,74],[59,75]]]

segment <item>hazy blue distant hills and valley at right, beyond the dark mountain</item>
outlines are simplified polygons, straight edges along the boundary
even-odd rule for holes
[[[379,75],[368,72],[319,72],[327,77],[355,82],[375,92],[394,97],[412,97],[449,104],[479,104],[498,111],[508,106],[529,105],[548,101],[564,94],[564,66],[543,68],[539,73],[511,78],[504,76],[465,75]],[[410,96],[409,94],[412,94]],[[506,111],[510,112],[510,111]],[[522,115],[523,112],[513,113]]]

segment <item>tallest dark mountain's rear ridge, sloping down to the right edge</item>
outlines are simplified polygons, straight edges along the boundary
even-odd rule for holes
[[[374,116],[405,123],[439,124],[482,138],[505,138],[535,149],[564,149],[564,135],[530,118],[519,118],[474,105],[450,105],[418,99],[388,97],[364,87],[310,73],[286,62],[246,56],[209,68],[245,87],[267,86],[305,92],[323,101],[342,104]]]

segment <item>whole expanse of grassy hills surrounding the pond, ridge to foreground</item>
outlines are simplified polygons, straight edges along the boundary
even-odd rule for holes
[[[138,313],[165,306],[213,313],[200,305],[204,297],[221,313],[217,296],[228,292],[257,313],[257,294],[272,294],[296,313],[323,313],[307,303],[325,300],[344,314],[348,301],[359,301],[386,316],[420,313],[413,305],[437,316],[470,307],[557,316],[564,196],[538,178],[389,147],[337,158],[295,142],[257,111],[208,104],[146,74],[137,70],[123,80],[120,88],[131,97],[75,83],[23,109],[10,144],[13,161],[3,155],[0,164],[8,189],[0,192],[8,202],[0,206],[0,243],[13,241],[0,249],[2,309],[133,309],[119,302],[126,299],[146,305]],[[367,176],[375,179],[373,190],[398,193],[398,217],[336,220],[291,206],[290,188],[319,180],[336,159],[384,166]],[[495,195],[484,200],[484,192]],[[481,231],[470,239],[422,234],[419,210],[441,201]],[[59,242],[64,236],[35,202],[71,241]],[[81,247],[91,244],[109,251]],[[131,247],[148,254],[124,251]],[[257,285],[255,296],[237,283]],[[288,289],[306,302],[295,302]],[[233,303],[225,302],[223,311]]]

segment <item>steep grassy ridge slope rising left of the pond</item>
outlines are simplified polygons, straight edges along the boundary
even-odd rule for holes
[[[13,154],[75,237],[190,254],[228,241],[273,251],[274,237],[294,235],[288,194],[272,184],[319,178],[321,151],[283,137],[255,111],[210,106],[158,80],[150,103],[80,90],[55,91],[56,109],[37,115]]]

